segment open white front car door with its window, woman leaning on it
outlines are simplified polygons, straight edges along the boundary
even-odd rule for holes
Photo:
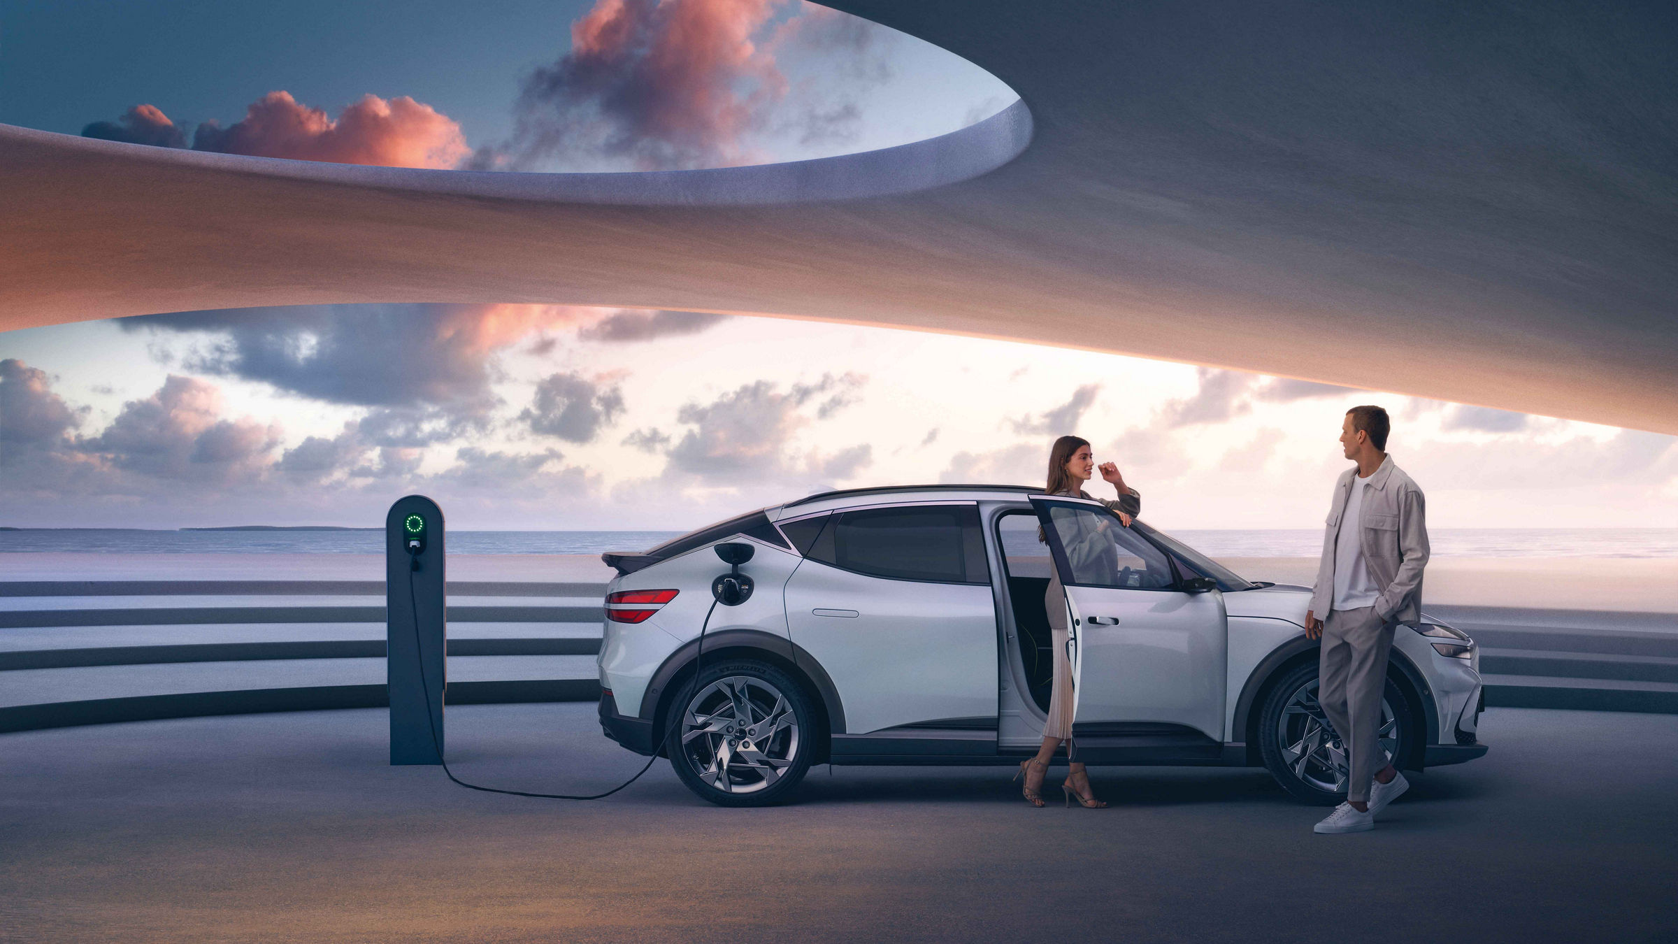
[[[1032,497],[1071,615],[1072,751],[1089,763],[1217,761],[1223,595],[1092,501]]]

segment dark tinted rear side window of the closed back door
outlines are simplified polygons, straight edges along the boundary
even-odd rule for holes
[[[797,543],[799,538],[794,538]],[[973,506],[904,506],[829,516],[805,556],[847,571],[933,583],[990,583]]]

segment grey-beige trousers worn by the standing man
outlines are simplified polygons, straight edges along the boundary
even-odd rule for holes
[[[1369,781],[1388,764],[1381,751],[1381,692],[1393,630],[1374,606],[1331,610],[1322,621],[1317,702],[1347,751],[1346,800],[1369,801]]]

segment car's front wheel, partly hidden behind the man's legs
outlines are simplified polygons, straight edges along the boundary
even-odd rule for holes
[[[1391,677],[1381,695],[1381,749],[1388,758],[1413,756],[1421,736],[1410,700]],[[1282,789],[1295,800],[1332,806],[1346,800],[1346,746],[1317,704],[1317,663],[1287,672],[1265,695],[1258,716],[1258,753]]]

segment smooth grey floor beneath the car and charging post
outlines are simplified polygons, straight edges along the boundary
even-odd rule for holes
[[[453,707],[455,773],[604,788],[639,761],[592,714]],[[386,766],[383,711],[7,734],[0,939],[1671,941],[1678,724],[1482,732],[1352,836],[1264,771],[1097,769],[1113,808],[1034,810],[1002,768],[817,768],[722,810],[664,763],[596,803],[466,791]]]

